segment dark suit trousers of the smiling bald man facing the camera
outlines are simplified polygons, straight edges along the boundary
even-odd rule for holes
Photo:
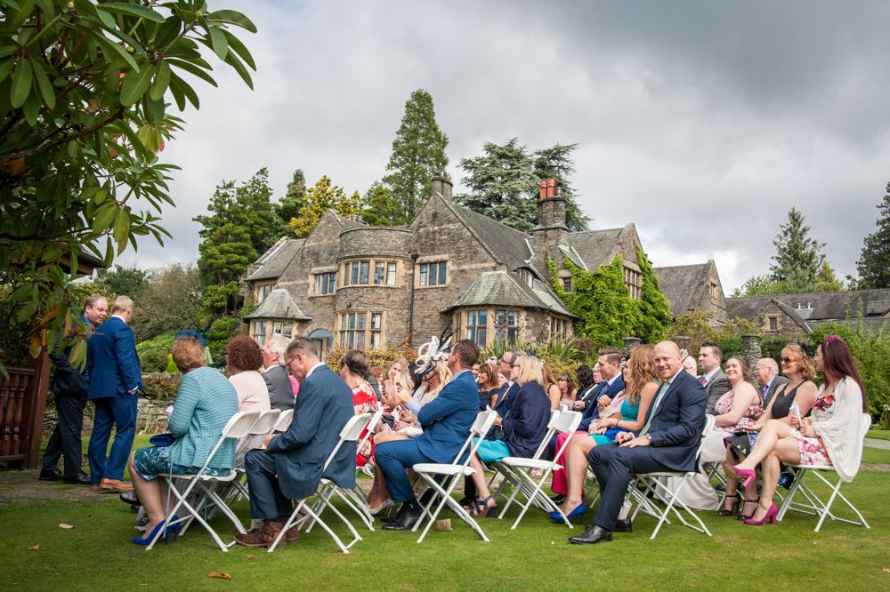
[[[651,446],[594,446],[587,452],[587,461],[594,471],[596,482],[600,484],[600,505],[596,508],[593,524],[608,531],[615,530],[631,476],[635,473],[668,470],[652,458]]]

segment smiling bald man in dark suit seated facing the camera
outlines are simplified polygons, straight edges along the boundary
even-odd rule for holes
[[[696,452],[705,427],[708,395],[691,374],[684,371],[680,348],[673,341],[655,346],[655,369],[664,382],[650,406],[639,436],[619,434],[616,444],[595,446],[587,460],[600,484],[600,505],[587,530],[570,542],[599,543],[611,540],[612,531],[630,532],[629,519],[618,519],[635,473],[696,470]]]

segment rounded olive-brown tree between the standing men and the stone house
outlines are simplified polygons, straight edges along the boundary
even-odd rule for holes
[[[194,265],[176,263],[156,269],[149,276],[133,313],[137,340],[161,333],[190,329],[201,308],[201,277]]]

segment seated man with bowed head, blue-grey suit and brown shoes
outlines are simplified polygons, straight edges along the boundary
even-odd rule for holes
[[[319,361],[311,340],[301,337],[291,341],[285,366],[300,381],[300,396],[296,397],[290,428],[265,436],[265,449],[248,451],[244,457],[250,516],[263,520],[259,530],[235,535],[245,547],[270,546],[294,510],[291,500],[315,493],[322,476],[344,489],[355,487],[354,446],[342,446],[323,470],[340,441],[340,431],[355,414],[352,389]],[[298,537],[296,528],[291,528],[279,547]]]

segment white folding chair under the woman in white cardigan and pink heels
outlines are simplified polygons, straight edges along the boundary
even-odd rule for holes
[[[868,434],[869,428],[871,426],[871,417],[868,413],[862,413],[862,420],[860,424],[860,429],[862,429],[863,436]],[[859,458],[856,460],[856,464],[862,460],[862,450],[860,450]],[[832,466],[821,466],[821,465],[789,465],[789,470],[791,474],[794,476],[794,480],[791,482],[789,486],[788,494],[785,496],[785,499],[781,502],[781,507],[779,508],[779,516],[777,516],[778,520],[781,520],[785,517],[785,514],[789,510],[794,510],[795,512],[800,512],[802,514],[809,514],[811,516],[819,516],[819,521],[816,523],[816,528],[814,532],[819,532],[819,529],[822,527],[822,523],[825,522],[825,518],[829,517],[832,520],[837,520],[837,522],[845,522],[846,524],[854,524],[856,526],[864,526],[865,528],[870,528],[869,523],[865,522],[865,518],[862,516],[862,513],[850,502],[847,500],[845,495],[840,492],[840,485],[843,483],[843,480],[840,476],[837,475],[837,470]],[[822,501],[821,498],[813,492],[813,489],[810,488],[807,484],[804,483],[804,477],[812,473],[816,476],[823,484],[827,485],[829,488],[829,499],[826,501]],[[837,480],[834,483],[831,483],[829,477],[825,475],[829,475],[834,473],[837,477]],[[806,501],[794,501],[794,498],[797,494],[803,495]],[[834,503],[836,498],[840,498],[844,501],[847,508],[850,508],[853,513],[859,518],[856,520],[849,520],[847,518],[841,518],[839,516],[835,516],[831,513],[831,505]]]

